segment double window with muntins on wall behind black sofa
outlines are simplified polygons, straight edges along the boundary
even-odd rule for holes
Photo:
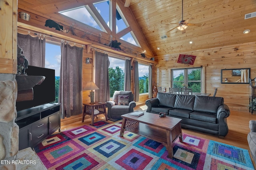
[[[202,92],[202,68],[180,68],[171,70],[172,88],[192,88],[193,92]]]

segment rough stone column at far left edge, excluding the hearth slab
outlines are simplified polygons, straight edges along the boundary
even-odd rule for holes
[[[16,169],[12,161],[18,152],[19,127],[14,122],[16,111],[17,83],[15,74],[0,74],[0,169]]]

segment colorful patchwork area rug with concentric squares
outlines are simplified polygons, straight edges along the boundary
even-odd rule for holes
[[[248,150],[183,133],[174,158],[164,145],[99,121],[51,135],[34,148],[49,170],[254,170]]]

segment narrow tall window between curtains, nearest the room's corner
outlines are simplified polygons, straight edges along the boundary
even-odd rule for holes
[[[138,64],[140,94],[148,93],[148,66]]]

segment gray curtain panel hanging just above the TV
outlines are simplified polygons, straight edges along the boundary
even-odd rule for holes
[[[28,59],[29,65],[45,66],[45,39],[18,33],[17,45],[22,48],[22,55]]]

